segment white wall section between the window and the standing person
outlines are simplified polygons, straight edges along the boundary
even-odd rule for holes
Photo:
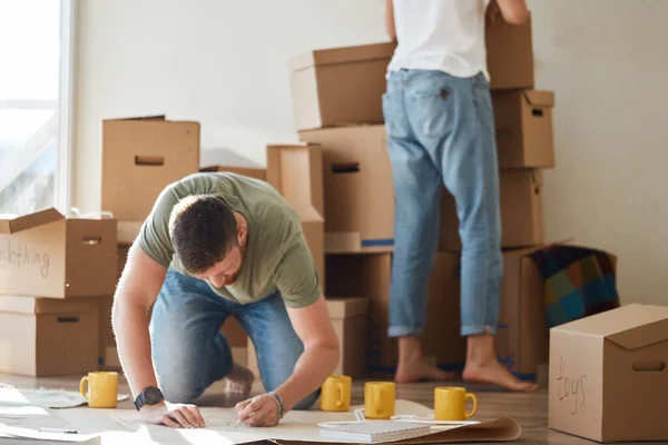
[[[296,141],[288,58],[386,41],[384,0],[79,1],[76,206],[100,207],[101,120],[166,113],[265,164]]]

